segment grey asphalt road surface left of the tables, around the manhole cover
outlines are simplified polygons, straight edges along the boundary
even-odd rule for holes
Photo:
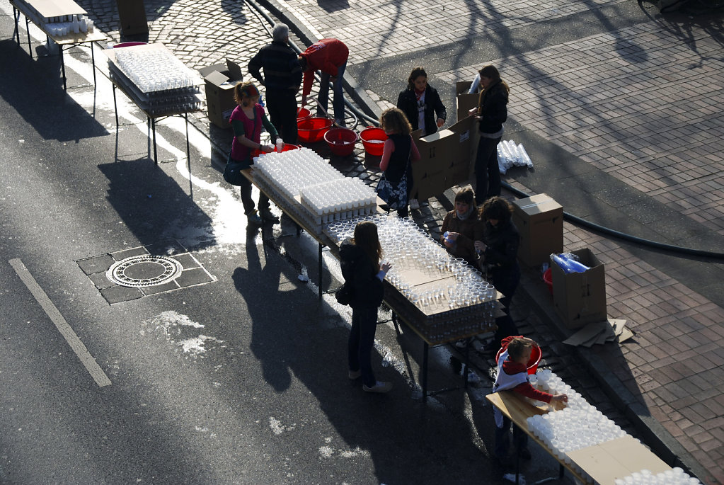
[[[194,130],[192,198],[179,119],[158,128],[159,158],[177,161],[154,166],[122,96],[116,130],[108,80],[66,94],[56,57],[30,59],[12,17],[0,33],[1,483],[505,483],[489,388],[423,404],[421,342],[384,324],[374,366],[395,389],[364,394],[346,376],[348,311],[290,263],[313,261],[308,236],[285,220],[273,244],[248,231]],[[92,79],[87,52],[66,66],[70,86]],[[79,265],[168,240],[215,281],[109,304]],[[449,360],[433,353],[432,387],[457,382]],[[534,454],[529,480],[557,473]]]

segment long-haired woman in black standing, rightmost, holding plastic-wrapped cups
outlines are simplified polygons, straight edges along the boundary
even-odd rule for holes
[[[480,122],[480,141],[475,158],[475,201],[479,205],[494,195],[500,195],[497,144],[502,138],[502,124],[508,119],[510,93],[508,84],[500,79],[500,72],[494,66],[480,69],[480,85],[483,90],[478,107],[470,111]]]

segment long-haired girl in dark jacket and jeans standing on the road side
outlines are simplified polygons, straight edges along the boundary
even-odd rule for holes
[[[377,307],[382,303],[382,280],[390,271],[390,263],[382,263],[382,247],[374,222],[363,221],[355,226],[354,238],[340,246],[340,261],[345,285],[352,289],[352,330],[348,340],[350,379],[362,377],[366,392],[389,392],[391,382],[377,381],[372,372],[371,352],[377,329]]]

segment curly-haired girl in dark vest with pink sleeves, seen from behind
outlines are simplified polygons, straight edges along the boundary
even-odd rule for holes
[[[384,177],[387,182],[390,182],[392,191],[395,193],[390,200],[385,202],[388,207],[397,209],[398,216],[405,217],[408,215],[408,201],[412,186],[411,164],[420,159],[420,152],[410,135],[412,132],[410,122],[399,108],[388,108],[382,111],[382,115],[379,117],[379,127],[387,133],[388,137],[384,141],[379,169],[384,172]]]

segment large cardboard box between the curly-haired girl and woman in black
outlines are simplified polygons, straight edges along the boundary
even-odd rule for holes
[[[412,166],[413,196],[424,201],[468,181],[478,148],[476,128],[470,117],[424,138],[416,138],[419,130],[413,133],[420,152],[420,160]]]

